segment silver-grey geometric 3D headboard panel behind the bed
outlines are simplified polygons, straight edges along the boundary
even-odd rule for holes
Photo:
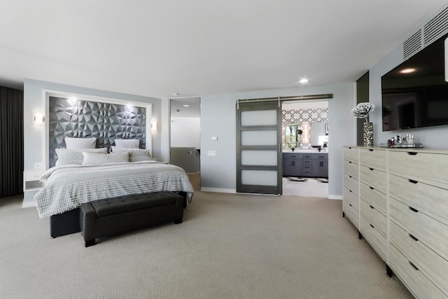
[[[146,108],[50,97],[49,167],[55,166],[55,148],[65,148],[64,137],[95,137],[97,148],[109,148],[119,139],[146,144]]]

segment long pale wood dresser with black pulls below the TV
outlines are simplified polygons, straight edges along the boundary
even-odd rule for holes
[[[448,150],[344,147],[343,216],[416,298],[448,298]]]

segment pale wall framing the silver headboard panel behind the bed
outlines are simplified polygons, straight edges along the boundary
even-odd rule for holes
[[[24,82],[24,159],[25,169],[34,169],[34,163],[45,161],[44,134],[45,126],[36,127],[32,123],[33,114],[36,112],[45,112],[45,90],[57,92],[73,92],[76,95],[90,95],[94,97],[105,97],[109,99],[123,99],[127,101],[144,102],[153,104],[152,120],[158,123],[161,120],[160,99],[153,97],[141,97],[137,95],[127,95],[118,92],[109,92],[105,90],[94,90],[90,88],[81,88],[78,86],[63,85],[45,81],[36,81],[25,79]],[[45,120],[48,122],[48,119]],[[159,130],[159,129],[158,129]],[[151,130],[148,130],[150,133]],[[161,156],[160,131],[151,132],[153,135],[153,156]]]

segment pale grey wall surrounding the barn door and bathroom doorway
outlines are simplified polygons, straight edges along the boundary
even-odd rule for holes
[[[201,188],[202,190],[236,191],[236,101],[257,97],[286,97],[295,95],[316,95],[332,93],[328,101],[328,127],[330,141],[328,155],[329,194],[342,198],[342,146],[353,144],[354,105],[353,83],[294,88],[258,92],[239,92],[224,95],[203,95],[201,97]],[[165,107],[165,108],[164,108]],[[168,99],[162,99],[162,111],[169,111]],[[168,114],[163,116],[162,134],[169,132]],[[212,141],[211,137],[218,137]],[[167,140],[162,141],[162,152],[168,149]],[[216,151],[208,156],[207,151]]]

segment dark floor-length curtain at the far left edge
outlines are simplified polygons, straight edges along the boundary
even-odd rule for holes
[[[23,193],[23,91],[0,86],[0,197]]]

